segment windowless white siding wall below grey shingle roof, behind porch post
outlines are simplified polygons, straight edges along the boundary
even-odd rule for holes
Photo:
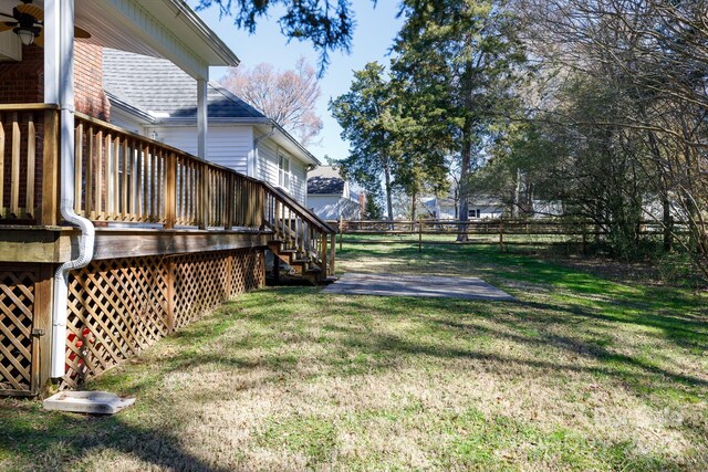
[[[157,140],[197,155],[197,127],[155,128]],[[148,132],[149,135],[149,132]],[[210,162],[248,172],[248,159],[253,149],[253,128],[250,126],[209,126],[207,158]]]

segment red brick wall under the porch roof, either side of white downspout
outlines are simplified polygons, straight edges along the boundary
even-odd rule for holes
[[[108,119],[111,106],[103,92],[103,50],[74,43],[74,93],[76,111]],[[22,46],[21,62],[0,62],[0,103],[44,102],[44,50]]]

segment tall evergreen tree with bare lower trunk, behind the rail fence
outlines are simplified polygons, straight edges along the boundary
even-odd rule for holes
[[[406,0],[403,13],[394,69],[415,84],[424,115],[436,123],[428,143],[460,156],[459,218],[467,220],[472,164],[517,107],[512,92],[524,54],[514,18],[491,0]]]

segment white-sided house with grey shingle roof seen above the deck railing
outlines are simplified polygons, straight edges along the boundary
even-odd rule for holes
[[[111,122],[197,155],[197,81],[164,59],[104,49]],[[221,87],[207,90],[209,161],[281,187],[306,202],[320,161],[275,122]]]

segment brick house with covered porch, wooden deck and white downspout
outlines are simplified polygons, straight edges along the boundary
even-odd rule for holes
[[[0,12],[22,20],[0,31],[0,395],[75,388],[138,354],[261,286],[267,249],[313,282],[333,273],[325,222],[206,160],[209,66],[239,61],[184,0],[0,0]],[[122,122],[105,48],[194,78],[196,155]]]

